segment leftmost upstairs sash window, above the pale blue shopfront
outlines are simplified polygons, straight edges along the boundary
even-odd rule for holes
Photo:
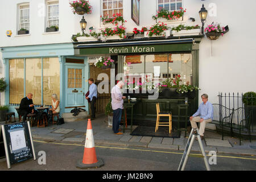
[[[24,28],[30,30],[30,5],[19,6],[19,30]]]

